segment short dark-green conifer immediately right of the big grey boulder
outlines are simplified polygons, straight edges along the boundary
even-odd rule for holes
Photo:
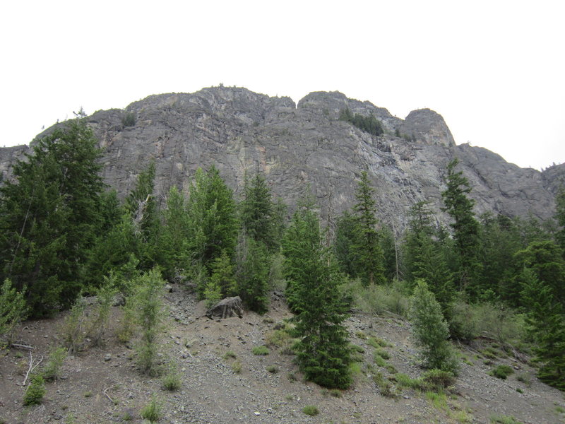
[[[270,256],[261,241],[245,237],[237,249],[237,292],[250,310],[264,314],[268,310]]]

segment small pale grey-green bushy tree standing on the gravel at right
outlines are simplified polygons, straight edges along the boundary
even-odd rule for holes
[[[447,341],[449,330],[441,307],[423,280],[416,281],[411,298],[410,321],[412,334],[424,367],[456,372],[456,358]]]

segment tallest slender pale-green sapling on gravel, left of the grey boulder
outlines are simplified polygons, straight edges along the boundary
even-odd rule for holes
[[[136,279],[133,298],[128,299],[136,313],[136,324],[141,330],[141,338],[136,348],[137,362],[141,371],[148,375],[157,375],[160,372],[157,353],[160,335],[164,329],[164,285],[165,281],[162,280],[160,272],[152,269]]]

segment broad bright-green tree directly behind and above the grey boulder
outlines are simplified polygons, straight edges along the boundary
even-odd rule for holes
[[[214,166],[206,173],[196,170],[186,210],[190,259],[210,271],[212,261],[222,252],[230,257],[234,253],[238,228],[232,190]]]

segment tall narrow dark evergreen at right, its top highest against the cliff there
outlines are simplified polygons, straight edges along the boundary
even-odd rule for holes
[[[478,260],[479,223],[472,211],[475,202],[468,197],[471,192],[469,182],[463,177],[463,172],[455,170],[458,163],[459,160],[456,158],[447,165],[447,189],[441,193],[441,196],[445,204],[443,210],[453,220],[451,228],[453,228],[458,254],[460,287],[467,290],[472,298],[477,298],[480,294],[477,285],[481,270]]]

